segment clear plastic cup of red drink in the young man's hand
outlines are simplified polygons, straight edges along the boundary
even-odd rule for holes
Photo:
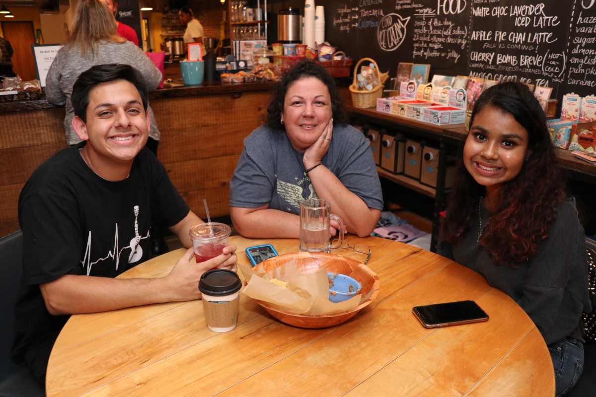
[[[191,227],[190,237],[193,239],[194,258],[197,263],[221,255],[222,249],[228,245],[231,232],[228,225],[217,222],[201,223]]]

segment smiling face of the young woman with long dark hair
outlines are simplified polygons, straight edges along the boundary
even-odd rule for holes
[[[465,168],[488,193],[499,190],[522,170],[527,146],[527,131],[513,115],[486,107],[475,115],[465,140]]]

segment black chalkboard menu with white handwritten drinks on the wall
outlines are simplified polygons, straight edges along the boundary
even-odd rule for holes
[[[315,0],[325,7],[325,39],[391,77],[399,62],[430,64],[431,76],[518,80],[552,87],[559,99],[596,94],[595,3]]]

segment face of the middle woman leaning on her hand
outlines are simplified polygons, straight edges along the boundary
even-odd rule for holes
[[[329,89],[316,77],[303,77],[288,87],[281,118],[294,149],[305,151],[329,124],[333,110]]]

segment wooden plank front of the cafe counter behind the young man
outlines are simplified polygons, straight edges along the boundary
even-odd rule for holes
[[[229,214],[229,180],[243,139],[261,124],[273,83],[181,86],[150,93],[158,157],[190,208]],[[39,164],[66,147],[64,107],[44,99],[0,102],[0,236],[19,229],[18,195]]]

